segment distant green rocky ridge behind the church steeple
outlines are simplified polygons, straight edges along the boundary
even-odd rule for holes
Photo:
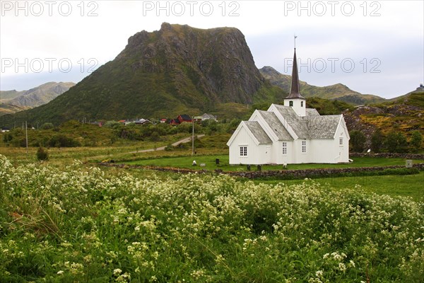
[[[281,74],[273,67],[263,67],[259,69],[262,76],[268,79],[274,86],[279,86],[285,91],[290,91],[291,76]],[[302,96],[325,98],[330,100],[341,100],[346,103],[353,105],[365,105],[370,103],[382,103],[387,101],[379,96],[373,96],[370,94],[361,94],[356,91],[352,91],[347,86],[336,83],[332,86],[312,86],[305,81],[300,81],[300,89],[302,90]]]

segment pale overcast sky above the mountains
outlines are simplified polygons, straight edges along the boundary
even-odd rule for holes
[[[424,81],[424,1],[0,1],[2,91],[81,81],[163,22],[235,27],[258,68],[384,98]]]

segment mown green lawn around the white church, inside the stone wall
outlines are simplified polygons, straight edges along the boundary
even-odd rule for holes
[[[216,158],[220,160],[220,164],[216,165]],[[192,166],[193,161],[196,161],[197,166]],[[416,160],[414,163],[421,163],[424,160]],[[204,166],[201,166],[201,164]],[[246,171],[247,166],[229,165],[228,155],[214,156],[182,156],[182,157],[164,157],[143,159],[138,161],[129,161],[126,164],[141,165],[141,166],[160,166],[160,167],[175,167],[175,168],[192,168],[215,170],[222,169],[223,171]],[[395,166],[405,165],[404,158],[372,158],[372,157],[357,157],[353,158],[353,163],[343,164],[289,164],[288,169],[310,169],[310,168],[351,168],[351,167],[372,167],[372,166]],[[281,170],[281,165],[265,165],[263,170]],[[256,170],[256,166],[252,166],[252,170]]]

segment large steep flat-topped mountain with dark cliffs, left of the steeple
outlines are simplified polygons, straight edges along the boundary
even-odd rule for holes
[[[160,30],[129,37],[113,61],[50,103],[20,115],[37,122],[201,112],[222,117],[252,103],[281,101],[286,94],[261,76],[240,30],[163,23]]]

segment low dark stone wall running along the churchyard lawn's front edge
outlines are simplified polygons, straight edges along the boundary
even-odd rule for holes
[[[137,165],[126,165],[126,164],[114,164],[114,163],[99,163],[100,166],[117,167],[117,168],[139,168],[139,169],[150,169],[162,172],[172,173],[197,173],[197,174],[228,174],[236,177],[244,178],[281,178],[285,180],[290,179],[303,179],[303,178],[326,178],[338,175],[355,175],[361,173],[366,175],[379,175],[386,169],[399,169],[406,168],[405,166],[378,166],[378,167],[351,167],[351,168],[316,168],[316,169],[302,169],[302,170],[273,170],[273,171],[222,171],[216,169],[214,171],[208,170],[193,170],[185,168],[170,168],[170,167],[156,167],[156,166],[137,166]],[[252,166],[252,168],[254,168]],[[413,168],[418,170],[424,170],[424,163],[413,164]],[[374,174],[373,174],[374,173]]]

